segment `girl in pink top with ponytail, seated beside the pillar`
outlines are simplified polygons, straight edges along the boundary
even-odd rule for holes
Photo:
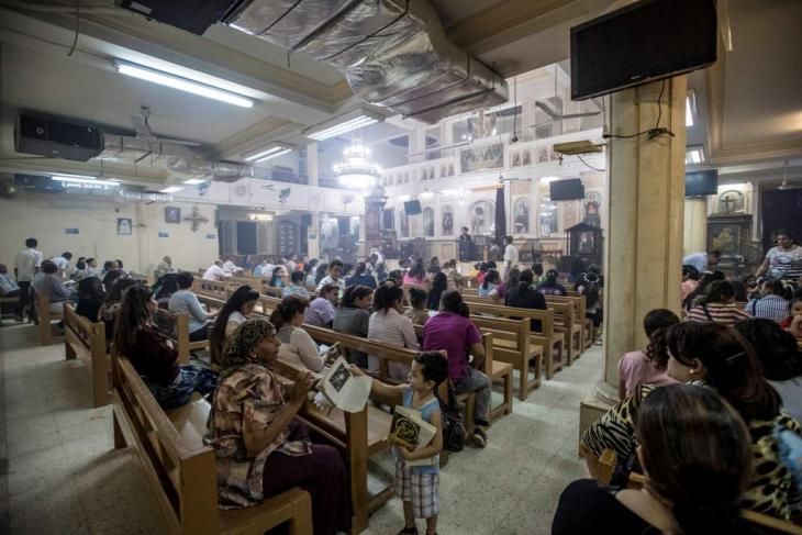
[[[644,331],[649,339],[646,353],[635,350],[624,354],[619,360],[619,397],[623,400],[632,395],[639,384],[655,384],[661,387],[677,382],[666,374],[666,368],[658,368],[649,358],[649,353],[655,350],[650,342],[654,337],[655,344],[662,336],[662,330],[679,323],[677,314],[666,309],[655,309],[644,316]]]

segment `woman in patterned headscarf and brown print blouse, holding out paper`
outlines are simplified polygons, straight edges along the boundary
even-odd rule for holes
[[[339,453],[312,444],[293,421],[312,376],[301,371],[293,388],[285,387],[270,367],[280,345],[272,324],[255,317],[234,331],[220,357],[208,434],[216,452],[220,506],[246,508],[300,487],[312,495],[315,535],[348,532],[350,500]]]

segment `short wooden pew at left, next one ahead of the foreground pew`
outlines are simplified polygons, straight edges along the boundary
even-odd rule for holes
[[[94,406],[111,402],[111,359],[105,353],[105,324],[92,323],[78,315],[69,303],[64,303],[64,353],[67,360],[80,357],[92,375]]]

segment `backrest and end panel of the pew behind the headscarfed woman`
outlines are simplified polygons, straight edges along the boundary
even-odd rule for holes
[[[115,355],[112,363],[115,405],[147,459],[145,471],[170,532],[219,533],[214,450],[197,435],[178,433],[127,358]]]

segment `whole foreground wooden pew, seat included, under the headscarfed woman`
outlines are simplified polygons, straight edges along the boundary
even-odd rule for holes
[[[289,522],[293,535],[312,534],[312,500],[290,489],[243,510],[218,508],[214,449],[203,444],[209,404],[196,398],[174,422],[124,356],[112,358],[114,447],[133,448],[169,533],[263,534]]]

